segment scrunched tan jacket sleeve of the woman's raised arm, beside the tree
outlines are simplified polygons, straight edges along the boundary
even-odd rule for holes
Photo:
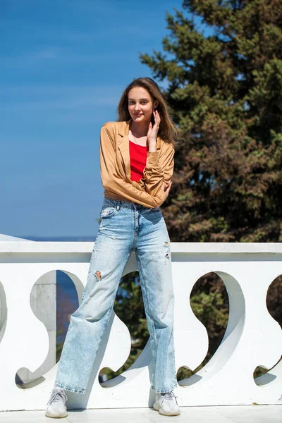
[[[172,144],[164,144],[162,152],[147,152],[147,164],[144,169],[144,182],[146,192],[157,195],[161,185],[165,183],[165,190],[173,175],[174,148]]]

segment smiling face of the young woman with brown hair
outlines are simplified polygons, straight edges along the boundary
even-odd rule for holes
[[[152,98],[142,87],[134,87],[128,92],[128,111],[134,122],[149,122],[153,113]]]

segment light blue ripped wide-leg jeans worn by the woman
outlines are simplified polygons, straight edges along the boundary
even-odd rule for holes
[[[173,286],[166,223],[159,207],[104,198],[80,307],[72,314],[55,386],[85,393],[130,252],[135,250],[152,349],[151,386],[177,386],[173,345]]]

